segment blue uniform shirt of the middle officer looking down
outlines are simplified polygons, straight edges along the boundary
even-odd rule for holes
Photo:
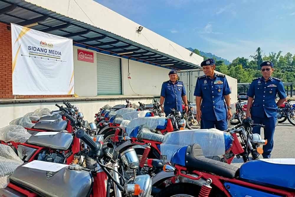
[[[208,121],[226,119],[227,110],[224,95],[230,93],[230,86],[225,75],[214,74],[213,79],[206,75],[198,77],[194,96],[202,97],[202,119]]]

